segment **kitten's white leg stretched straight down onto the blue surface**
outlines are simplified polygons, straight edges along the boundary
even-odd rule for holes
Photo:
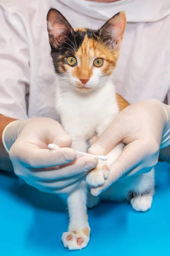
[[[69,250],[80,250],[86,247],[89,241],[86,197],[87,189],[84,182],[68,195],[70,223],[68,232],[62,234],[62,242]]]

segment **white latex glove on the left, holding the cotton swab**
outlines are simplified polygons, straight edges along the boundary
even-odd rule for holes
[[[43,192],[71,192],[98,163],[89,156],[76,159],[76,151],[68,148],[71,138],[54,119],[31,118],[11,123],[4,138],[15,174]],[[49,150],[49,143],[62,148]]]

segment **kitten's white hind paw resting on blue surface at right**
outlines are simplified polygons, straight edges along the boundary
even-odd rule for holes
[[[130,204],[138,212],[146,212],[152,205],[152,195],[142,195],[141,197],[132,198]]]

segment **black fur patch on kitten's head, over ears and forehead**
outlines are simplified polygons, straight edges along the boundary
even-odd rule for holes
[[[65,73],[65,59],[71,56],[74,57],[75,52],[82,45],[85,39],[85,35],[87,35],[89,39],[93,38],[96,41],[102,41],[106,47],[110,47],[111,41],[113,39],[110,33],[110,21],[117,15],[119,15],[119,13],[114,15],[98,30],[87,28],[74,31],[68,20],[66,20],[58,10],[50,9],[47,15],[47,21],[53,24],[59,23],[59,25],[65,26],[63,32],[64,35],[60,35],[62,40],[60,40],[60,37],[57,39],[54,38],[51,29],[48,27],[49,42],[51,45],[51,57],[53,59],[56,73],[61,75]],[[57,47],[57,49],[54,47]]]

